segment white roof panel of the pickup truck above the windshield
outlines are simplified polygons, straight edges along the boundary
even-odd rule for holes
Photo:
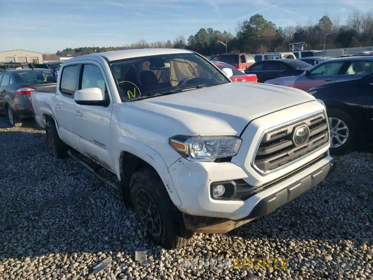
[[[152,48],[152,49],[132,49],[132,50],[112,50],[110,52],[102,52],[102,53],[93,53],[88,56],[102,56],[107,58],[109,61],[118,60],[118,59],[126,59],[131,57],[140,57],[140,56],[148,56],[148,55],[169,55],[173,53],[191,53],[190,50],[184,49],[160,49],[160,48]],[[79,56],[81,59],[81,56]],[[76,60],[79,57],[74,57],[69,60]]]

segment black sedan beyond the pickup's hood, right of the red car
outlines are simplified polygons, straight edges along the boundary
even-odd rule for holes
[[[254,63],[245,70],[245,74],[255,74],[258,83],[264,83],[275,78],[299,76],[310,68],[311,65],[298,59],[271,59]]]

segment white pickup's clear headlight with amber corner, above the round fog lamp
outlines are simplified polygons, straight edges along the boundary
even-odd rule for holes
[[[214,161],[235,156],[242,140],[235,136],[194,137],[175,136],[170,145],[189,161]]]

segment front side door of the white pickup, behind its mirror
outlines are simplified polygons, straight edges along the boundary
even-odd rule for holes
[[[75,103],[76,126],[80,136],[79,151],[107,169],[115,170],[114,159],[110,157],[110,121],[113,109],[108,81],[102,66],[94,60],[83,60],[83,72],[79,89],[100,88],[105,98],[110,99],[108,107],[87,106]]]

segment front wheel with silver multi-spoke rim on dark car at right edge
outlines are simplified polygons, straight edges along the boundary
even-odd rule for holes
[[[356,124],[344,111],[327,109],[330,129],[330,153],[342,154],[356,145]]]

